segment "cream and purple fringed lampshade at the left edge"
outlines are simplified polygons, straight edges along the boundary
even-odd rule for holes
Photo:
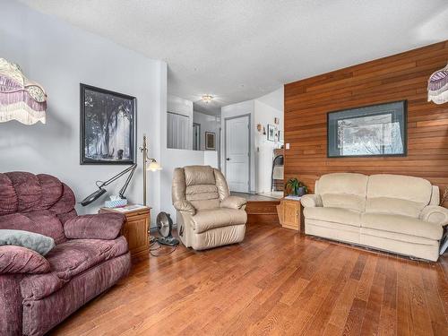
[[[18,120],[31,125],[45,124],[47,94],[26,78],[19,65],[0,58],[0,123]]]

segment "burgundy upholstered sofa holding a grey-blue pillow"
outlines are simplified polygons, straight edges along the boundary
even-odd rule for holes
[[[74,202],[56,177],[0,173],[0,229],[56,242],[45,259],[24,247],[0,246],[1,335],[42,335],[128,274],[124,216],[78,216]]]

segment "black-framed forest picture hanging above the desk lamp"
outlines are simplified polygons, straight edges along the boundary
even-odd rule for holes
[[[81,84],[81,164],[133,164],[136,99]]]

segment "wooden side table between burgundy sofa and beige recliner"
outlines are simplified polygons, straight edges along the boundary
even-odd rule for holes
[[[133,262],[150,255],[149,229],[151,223],[151,208],[144,207],[137,210],[120,211],[114,208],[101,208],[99,213],[118,212],[126,216],[121,234],[125,236]]]

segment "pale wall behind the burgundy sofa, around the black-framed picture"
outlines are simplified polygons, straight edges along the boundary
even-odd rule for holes
[[[138,145],[142,134],[147,134],[151,157],[160,158],[160,116],[167,111],[164,62],[23,4],[3,1],[1,11],[0,56],[21,65],[31,80],[47,90],[48,108],[46,125],[0,124],[0,171],[54,175],[70,185],[80,202],[95,190],[95,181],[108,179],[126,167],[80,165],[80,82],[135,96]],[[126,193],[130,202],[142,202],[141,161],[139,152],[139,167]],[[149,177],[148,200],[154,214],[160,208],[159,173]],[[116,194],[124,182],[122,178],[109,185],[108,194]],[[105,199],[76,208],[81,213],[96,212]]]

